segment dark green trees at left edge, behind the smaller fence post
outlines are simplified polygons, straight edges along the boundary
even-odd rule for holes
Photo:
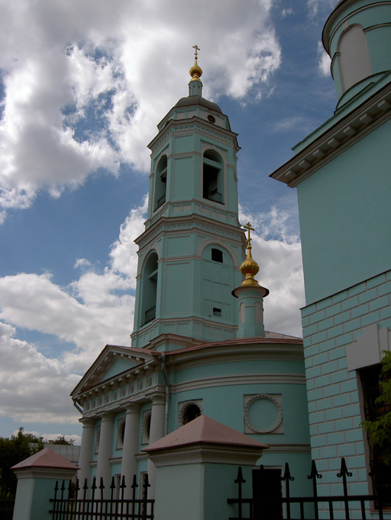
[[[31,445],[33,444],[33,445]],[[0,437],[0,483],[3,487],[15,490],[17,478],[11,469],[18,462],[30,457],[43,448],[42,442],[32,433],[24,433],[19,428],[17,435]]]

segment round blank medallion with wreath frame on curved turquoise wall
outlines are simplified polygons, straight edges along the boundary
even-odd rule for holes
[[[282,420],[283,408],[272,395],[253,395],[244,406],[244,421],[256,433],[270,433]]]

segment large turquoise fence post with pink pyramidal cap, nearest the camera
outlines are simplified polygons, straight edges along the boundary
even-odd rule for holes
[[[251,478],[265,448],[206,415],[154,442],[143,451],[156,467],[156,520],[228,519],[238,465]]]

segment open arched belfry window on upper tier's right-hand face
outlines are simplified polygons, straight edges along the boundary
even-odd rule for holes
[[[215,150],[203,154],[202,196],[224,204],[224,162]]]

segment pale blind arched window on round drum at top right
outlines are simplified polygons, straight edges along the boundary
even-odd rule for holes
[[[353,25],[342,33],[338,42],[338,51],[342,92],[346,92],[372,74],[367,37],[363,27]]]

